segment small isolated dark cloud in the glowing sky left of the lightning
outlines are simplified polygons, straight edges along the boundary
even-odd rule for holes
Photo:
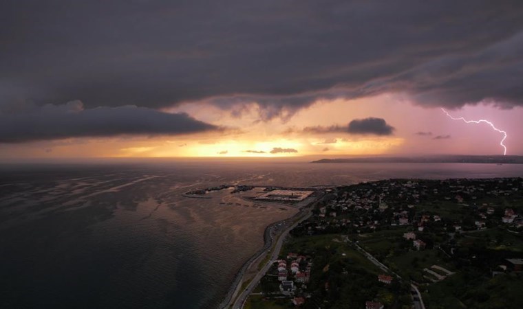
[[[349,133],[361,135],[392,135],[394,127],[387,124],[383,118],[368,117],[354,119],[348,126],[308,126],[303,128],[303,133],[325,134],[325,133]]]

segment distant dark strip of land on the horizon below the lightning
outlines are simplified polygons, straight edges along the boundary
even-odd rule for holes
[[[467,156],[442,155],[427,157],[355,157],[321,159],[311,163],[495,163],[523,164],[523,156]]]

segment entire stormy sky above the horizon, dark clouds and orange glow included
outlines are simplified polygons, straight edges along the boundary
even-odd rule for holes
[[[523,155],[521,16],[520,0],[2,1],[0,159],[503,155],[505,134]]]

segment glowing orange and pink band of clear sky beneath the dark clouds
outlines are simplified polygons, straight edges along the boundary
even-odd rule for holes
[[[70,138],[0,146],[2,157],[342,157],[344,155],[500,154],[500,135],[488,126],[452,121],[439,108],[415,106],[400,95],[360,100],[319,101],[289,119],[259,121],[257,106],[232,115],[202,102],[183,104],[168,112],[186,112],[196,119],[226,126],[220,133],[178,136]],[[451,111],[467,117],[488,117],[507,128],[509,155],[523,148],[513,136],[522,133],[522,108],[500,110],[467,106]],[[389,136],[348,133],[304,133],[307,126],[346,126],[352,119],[380,117],[395,128]],[[429,136],[416,135],[430,132]],[[436,136],[449,138],[435,139]],[[273,148],[296,152],[271,153]]]

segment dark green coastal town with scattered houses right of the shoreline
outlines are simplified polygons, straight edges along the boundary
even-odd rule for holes
[[[244,308],[523,308],[523,179],[337,187]]]

